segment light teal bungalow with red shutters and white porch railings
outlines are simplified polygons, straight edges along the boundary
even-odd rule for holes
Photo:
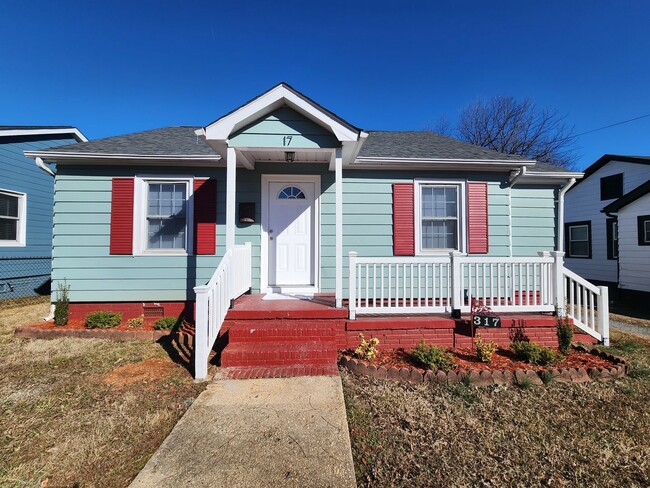
[[[53,277],[70,285],[71,317],[185,310],[198,376],[246,291],[331,296],[350,320],[458,314],[473,299],[550,312],[565,281],[597,301],[562,264],[564,189],[582,174],[428,131],[365,131],[285,83],[205,127],[26,154],[57,165]],[[568,312],[606,340],[585,306]]]

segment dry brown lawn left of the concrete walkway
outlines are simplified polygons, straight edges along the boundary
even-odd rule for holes
[[[47,312],[0,311],[0,486],[127,486],[204,385],[159,344],[13,337]],[[151,358],[171,364],[128,385],[103,382]]]

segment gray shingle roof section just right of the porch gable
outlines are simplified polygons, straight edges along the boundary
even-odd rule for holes
[[[503,154],[430,131],[368,131],[359,157],[418,159],[489,159],[526,161],[522,156]]]

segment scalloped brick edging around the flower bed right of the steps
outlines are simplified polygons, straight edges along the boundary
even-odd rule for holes
[[[622,378],[629,369],[629,364],[625,359],[609,354],[605,351],[598,349],[587,349],[584,346],[573,346],[579,352],[586,352],[598,356],[602,359],[613,363],[609,368],[548,368],[545,370],[535,371],[532,369],[516,369],[515,371],[496,370],[461,370],[461,371],[431,371],[427,370],[424,373],[418,371],[417,368],[386,368],[384,366],[376,366],[374,364],[367,364],[365,361],[358,359],[348,358],[341,356],[339,365],[346,368],[348,371],[358,375],[371,376],[373,378],[390,379],[397,381],[407,381],[409,383],[438,383],[453,385],[469,380],[473,386],[488,386],[488,385],[512,385],[520,384],[523,381],[530,381],[533,385],[543,385],[542,374],[549,372],[552,381],[559,383],[584,383],[591,380],[609,381],[617,378]],[[467,378],[467,379],[466,379]]]

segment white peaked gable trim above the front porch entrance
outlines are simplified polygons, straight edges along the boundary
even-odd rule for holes
[[[202,133],[196,131],[197,135],[205,135],[206,139],[225,141],[233,132],[255,121],[257,118],[272,112],[283,104],[288,105],[303,115],[317,121],[320,125],[331,130],[336,138],[341,141],[357,141],[359,132],[342,124],[334,117],[323,112],[293,90],[279,85],[265,93],[252,102],[240,107],[233,113],[213,122],[205,127]]]

